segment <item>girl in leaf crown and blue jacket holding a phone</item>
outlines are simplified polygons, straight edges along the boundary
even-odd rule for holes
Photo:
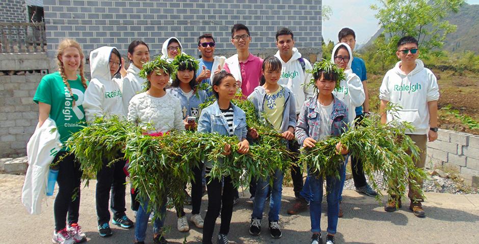
[[[198,61],[188,54],[181,53],[175,57],[171,64],[177,70],[171,88],[167,89],[167,92],[181,101],[182,118],[185,119],[183,121],[184,128],[195,131],[196,119],[200,114],[199,105],[207,100],[206,92],[198,89],[196,83]],[[193,205],[190,221],[193,222],[197,228],[203,228],[203,219],[200,215],[201,197],[203,196],[202,171],[203,163],[199,162],[198,167],[193,168],[195,177],[191,180],[191,198],[188,202]],[[184,191],[185,197],[188,199],[188,193],[186,190]],[[187,200],[185,200],[185,203],[187,203]],[[178,231],[189,231],[190,227],[182,204],[181,206],[176,206],[176,215],[178,217]]]

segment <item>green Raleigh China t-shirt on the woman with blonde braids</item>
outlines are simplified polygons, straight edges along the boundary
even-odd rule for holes
[[[75,99],[73,107],[73,99],[59,72],[43,76],[33,97],[34,102],[51,106],[49,117],[55,120],[62,143],[67,141],[71,134],[81,130],[81,126],[86,125],[83,110],[85,87],[82,85],[82,80],[78,76],[76,80],[68,80],[68,83]],[[65,149],[63,147],[62,151]]]

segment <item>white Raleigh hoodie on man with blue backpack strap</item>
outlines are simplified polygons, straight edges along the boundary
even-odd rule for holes
[[[296,47],[292,48],[292,56],[289,58],[288,62],[284,62],[279,55],[279,50],[276,52],[275,56],[281,61],[281,78],[278,80],[278,84],[287,87],[292,94],[295,96],[295,107],[296,114],[301,111],[301,106],[303,103],[314,97],[314,86],[307,86],[311,81],[312,75],[306,72],[303,72],[303,67],[301,67],[301,62],[298,60],[301,58],[301,53]],[[306,58],[303,58],[305,64],[305,71],[311,70],[311,63]]]

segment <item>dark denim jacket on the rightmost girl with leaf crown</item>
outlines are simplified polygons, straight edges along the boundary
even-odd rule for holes
[[[348,108],[334,95],[333,112],[331,113],[331,135],[339,136],[348,130]],[[295,134],[300,145],[306,138],[317,140],[321,130],[320,108],[317,107],[317,96],[305,101],[301,107]]]

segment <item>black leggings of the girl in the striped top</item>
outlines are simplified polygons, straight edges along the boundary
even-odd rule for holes
[[[216,219],[221,210],[220,234],[227,235],[231,216],[233,215],[233,184],[230,176],[223,177],[224,186],[221,189],[221,180],[212,179],[206,176],[206,187],[208,189],[208,210],[204,218],[203,244],[210,244],[213,232],[215,231]],[[200,182],[199,182],[200,183]],[[223,194],[222,194],[223,190]],[[223,206],[222,206],[223,205]]]

